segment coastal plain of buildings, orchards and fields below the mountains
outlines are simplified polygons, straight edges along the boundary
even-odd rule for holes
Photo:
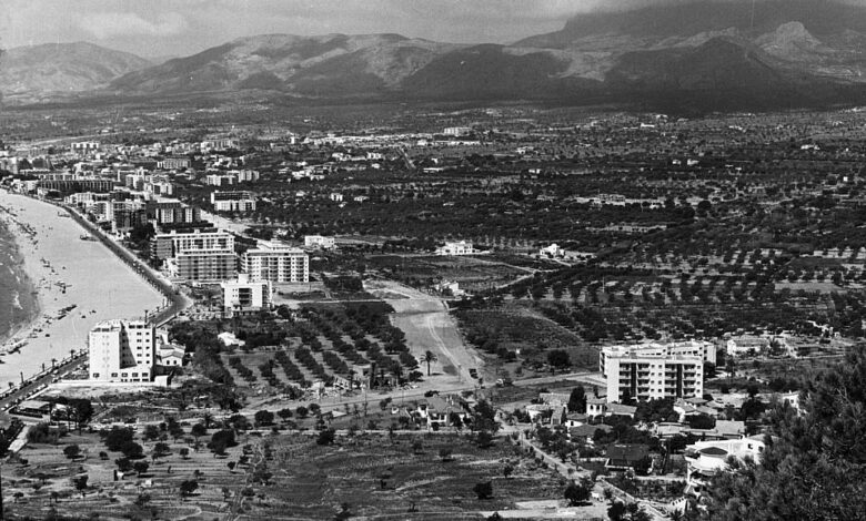
[[[164,305],[0,395],[14,519],[712,518],[863,370],[859,110],[23,114]]]

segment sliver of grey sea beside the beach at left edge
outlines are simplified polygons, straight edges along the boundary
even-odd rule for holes
[[[14,236],[0,221],[0,344],[38,315],[36,288],[24,274]]]

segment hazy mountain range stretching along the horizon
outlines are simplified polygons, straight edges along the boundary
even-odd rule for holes
[[[511,101],[738,110],[866,100],[866,8],[695,0],[575,16],[512,44],[399,34],[246,37],[152,64],[87,43],[10,50],[7,101],[258,91],[306,100]]]

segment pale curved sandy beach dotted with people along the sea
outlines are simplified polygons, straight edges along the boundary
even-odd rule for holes
[[[0,211],[24,258],[24,272],[38,290],[40,313],[2,343],[27,341],[17,353],[0,356],[0,389],[87,348],[88,333],[100,320],[139,318],[164,304],[164,297],[102,243],[87,234],[66,211],[48,203],[0,192]],[[27,233],[24,224],[33,234]],[[63,309],[75,306],[71,311]],[[61,317],[62,318],[59,318]]]

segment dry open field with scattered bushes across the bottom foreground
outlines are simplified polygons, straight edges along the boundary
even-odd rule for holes
[[[215,431],[210,429],[207,439]],[[169,452],[157,458],[150,454],[159,441],[137,441],[144,457],[133,461],[147,462],[148,469],[117,481],[115,459],[122,454],[107,451],[97,433],[29,445],[3,468],[7,514],[333,519],[342,511],[367,518],[480,519],[479,512],[511,510],[521,501],[561,500],[565,486],[555,471],[504,438],[482,449],[459,435],[361,433],[318,445],[315,436],[239,433],[238,445],[222,456],[201,445],[195,450],[199,440],[169,438]],[[81,448],[75,460],[64,457],[71,445]],[[74,480],[84,476],[87,484],[77,488]],[[473,487],[487,481],[493,496],[480,500]]]

